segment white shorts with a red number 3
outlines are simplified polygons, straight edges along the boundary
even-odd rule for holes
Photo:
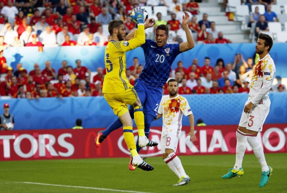
[[[249,102],[246,102],[245,105],[248,103]],[[262,126],[267,118],[267,115],[269,114],[270,104],[271,102],[265,104],[256,104],[251,109],[251,113],[246,114],[243,111],[239,126],[245,127],[251,131],[262,131]]]

